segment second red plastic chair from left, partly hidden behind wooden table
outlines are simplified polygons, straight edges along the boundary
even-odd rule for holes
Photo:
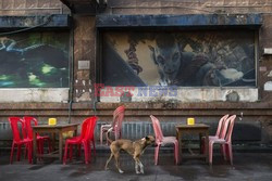
[[[33,128],[32,128],[32,122],[37,126],[38,120],[35,117],[29,117],[25,116],[23,117],[23,120],[25,122],[25,130],[27,133],[27,138],[33,140]],[[38,153],[44,154],[44,142],[48,141],[48,147],[49,147],[49,153],[52,152],[52,145],[51,145],[51,140],[48,135],[41,137],[37,134],[37,145],[38,145]]]

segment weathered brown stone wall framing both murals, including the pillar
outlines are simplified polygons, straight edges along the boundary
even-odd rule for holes
[[[258,125],[262,137],[259,141],[272,140],[271,91],[263,91],[264,83],[271,81],[271,55],[262,55],[263,48],[272,47],[272,2],[270,0],[108,0],[108,7],[101,14],[207,14],[207,13],[264,13],[260,29],[259,91],[260,101],[255,103],[126,103],[125,121],[149,121],[150,114],[163,121],[185,121],[188,116],[196,116],[201,121],[217,121],[223,114],[244,113],[243,121]],[[70,13],[59,0],[0,0],[0,15],[25,15]],[[96,81],[96,30],[94,16],[74,16],[74,61],[73,61],[73,101],[69,103],[5,103],[0,106],[0,121],[9,116],[32,115],[47,121],[55,116],[60,121],[82,121],[85,117],[97,114],[101,121],[110,121],[113,109],[120,104],[92,104],[94,82]],[[90,69],[78,69],[79,61],[90,61]],[[91,89],[91,91],[89,91]],[[91,92],[91,94],[89,94]],[[88,102],[88,103],[86,103]],[[95,106],[96,105],[96,106]],[[96,108],[95,108],[96,107]],[[95,112],[96,109],[96,112]],[[209,121],[207,121],[209,122]],[[240,128],[240,127],[239,127]],[[242,131],[243,137],[254,134],[250,129]],[[173,131],[174,133],[174,131]]]

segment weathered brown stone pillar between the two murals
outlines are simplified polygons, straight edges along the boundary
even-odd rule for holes
[[[96,30],[94,16],[74,17],[74,101],[91,101],[94,96]],[[82,61],[90,63],[89,69],[78,69]]]

